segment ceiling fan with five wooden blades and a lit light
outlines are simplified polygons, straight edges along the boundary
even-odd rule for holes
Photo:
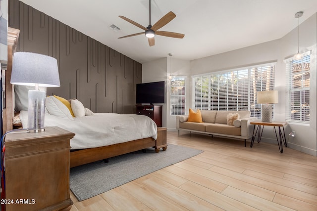
[[[132,35],[127,35],[127,36],[124,36],[124,37],[120,37],[118,39],[128,38],[128,37],[132,37],[132,36],[136,36],[136,35],[145,34],[145,37],[148,38],[149,45],[153,46],[153,45],[155,45],[154,37],[156,35],[165,36],[165,37],[171,37],[171,38],[180,38],[180,39],[183,38],[185,36],[184,34],[175,33],[175,32],[158,31],[160,28],[165,26],[167,23],[169,23],[171,20],[173,20],[176,17],[175,13],[172,12],[172,11],[170,11],[166,15],[164,15],[153,26],[151,25],[151,0],[149,0],[149,1],[150,1],[150,23],[149,23],[148,27],[144,27],[141,24],[138,24],[137,22],[134,22],[133,20],[130,20],[129,18],[126,18],[124,16],[119,15],[119,17],[122,18],[123,20],[128,21],[129,23],[139,27],[140,29],[143,29],[145,32],[140,32],[140,33],[136,33],[136,34],[132,34]]]

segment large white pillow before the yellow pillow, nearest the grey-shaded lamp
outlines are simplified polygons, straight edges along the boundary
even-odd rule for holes
[[[46,98],[45,106],[48,112],[56,117],[74,120],[69,109],[54,96],[49,96]]]

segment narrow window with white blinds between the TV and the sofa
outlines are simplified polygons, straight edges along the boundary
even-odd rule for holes
[[[185,114],[185,77],[172,77],[170,80],[170,114]]]

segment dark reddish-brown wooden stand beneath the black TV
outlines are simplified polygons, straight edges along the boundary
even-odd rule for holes
[[[136,107],[137,114],[150,117],[158,127],[162,127],[162,106],[137,105]]]

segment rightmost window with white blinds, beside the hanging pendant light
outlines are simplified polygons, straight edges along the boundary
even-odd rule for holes
[[[310,54],[303,59],[284,60],[286,63],[286,121],[310,122]]]

